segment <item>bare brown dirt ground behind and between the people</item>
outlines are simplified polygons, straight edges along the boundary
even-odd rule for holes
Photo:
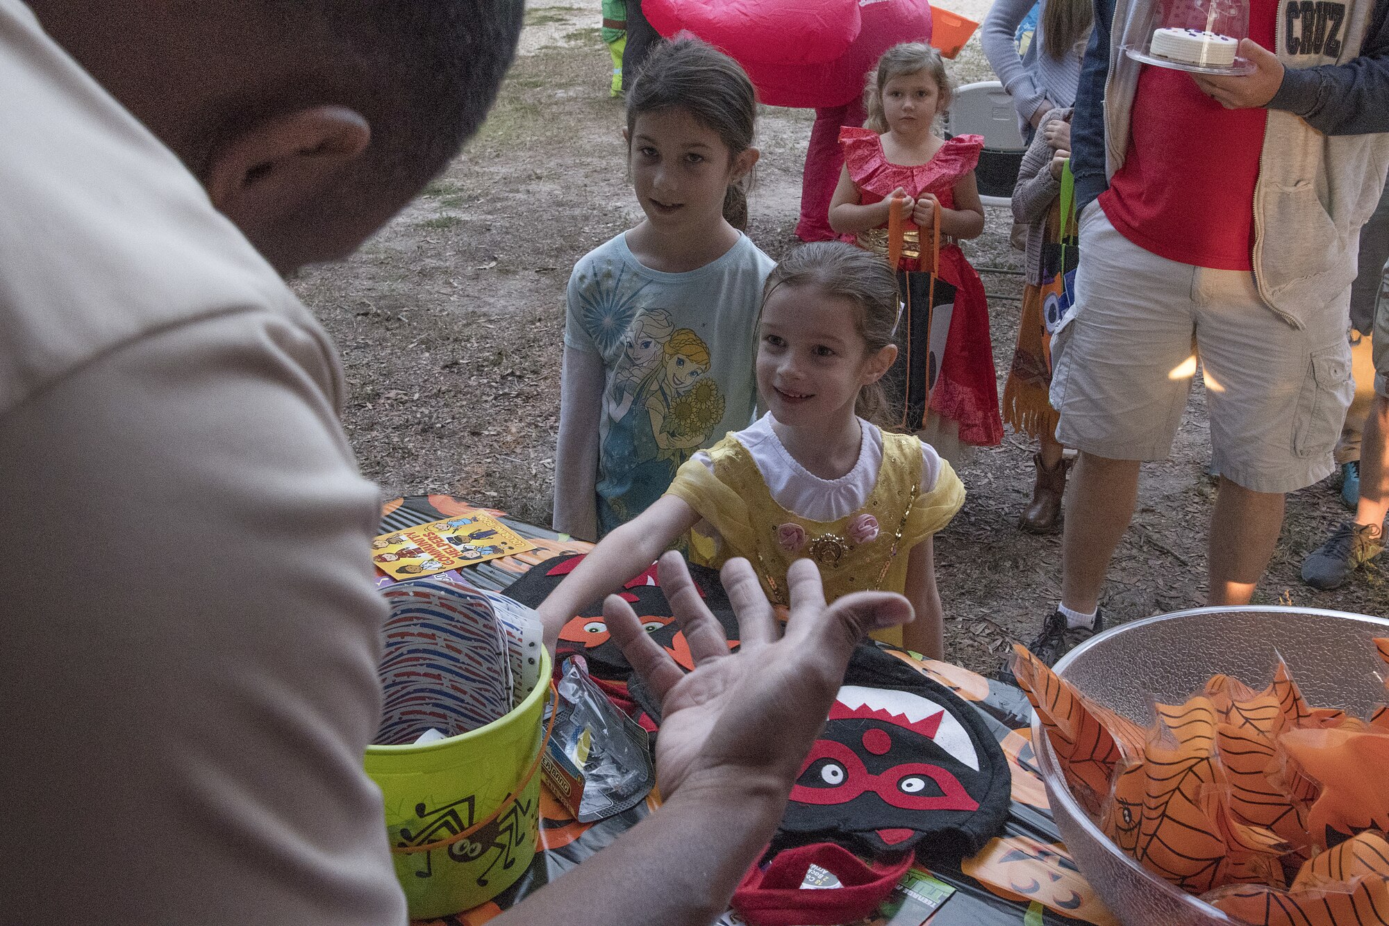
[[[640,220],[608,67],[596,4],[532,6],[497,106],[463,156],[356,257],[294,281],[338,339],[351,388],[346,427],[388,496],[450,492],[549,524],[569,268]],[[992,76],[978,38],[953,72],[961,83]],[[758,120],[749,234],[772,257],[795,243],[810,124],[808,110],[775,107]],[[1021,254],[1008,247],[1011,218],[990,209],[988,220],[965,253],[990,293],[1001,391],[1021,279],[986,268],[1017,270]],[[1143,467],[1139,510],[1106,587],[1111,619],[1204,603],[1208,453],[1197,385],[1171,459]],[[1011,434],[976,453],[961,470],[968,501],[936,538],[947,655],[971,669],[992,670],[1058,598],[1060,538],[1015,527],[1031,496],[1031,455]],[[1345,516],[1331,480],[1290,496],[1256,602],[1386,613],[1389,564],[1335,592],[1297,577]]]

